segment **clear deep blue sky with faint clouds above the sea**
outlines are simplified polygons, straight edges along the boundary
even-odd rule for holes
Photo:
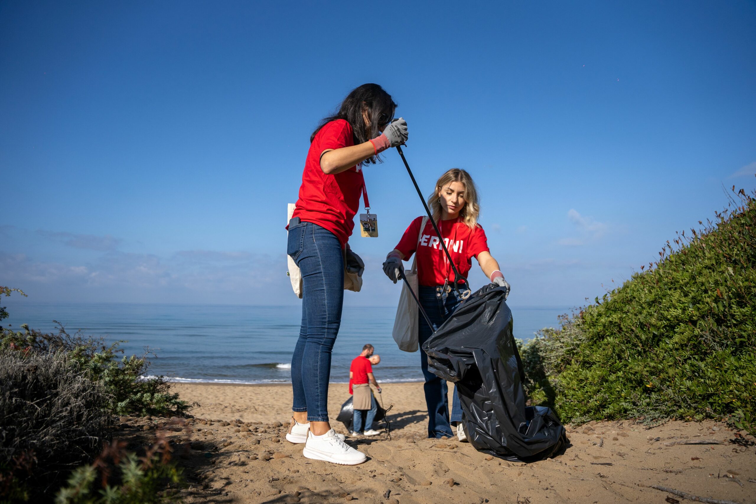
[[[0,284],[296,305],[286,203],[364,82],[424,192],[476,179],[512,305],[581,305],[756,187],[754,2],[462,5],[0,2]],[[423,209],[395,152],[366,179],[380,237],[352,238],[346,303],[393,305],[380,263]]]

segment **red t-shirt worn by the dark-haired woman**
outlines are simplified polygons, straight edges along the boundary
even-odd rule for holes
[[[362,172],[352,166],[336,175],[327,175],[321,170],[321,153],[354,144],[352,125],[344,119],[328,122],[318,131],[307,153],[299,199],[292,215],[326,228],[336,235],[342,247],[355,227],[353,219],[360,207]]]

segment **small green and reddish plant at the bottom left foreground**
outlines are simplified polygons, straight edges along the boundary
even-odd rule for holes
[[[178,498],[181,468],[171,461],[166,438],[157,438],[144,456],[114,441],[91,465],[77,468],[60,488],[56,504],[154,504]]]

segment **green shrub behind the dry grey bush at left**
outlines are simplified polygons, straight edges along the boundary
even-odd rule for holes
[[[43,333],[21,325],[22,331],[0,329],[0,349],[11,348],[24,353],[64,352],[68,362],[100,383],[109,398],[107,410],[116,415],[184,414],[190,407],[178,394],[170,391],[163,376],[145,379],[147,356],[123,356],[120,342],[105,345],[103,339],[68,334],[58,323],[57,333]]]

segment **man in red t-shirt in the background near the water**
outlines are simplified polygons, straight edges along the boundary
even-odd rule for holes
[[[370,363],[370,356],[373,355],[373,345],[368,343],[362,347],[362,352],[354,360],[352,360],[352,366],[349,367],[349,393],[353,394],[352,408],[354,410],[352,416],[352,432],[349,434],[352,436],[375,436],[380,434],[380,431],[373,430],[373,418],[378,411],[378,404],[375,397],[373,397],[373,391],[370,389],[370,384],[375,385],[378,393],[380,394],[380,387],[376,382],[375,376],[373,376],[373,364]],[[378,358],[380,362],[380,357]],[[365,416],[365,428],[363,432],[358,429],[362,425],[362,415]]]

